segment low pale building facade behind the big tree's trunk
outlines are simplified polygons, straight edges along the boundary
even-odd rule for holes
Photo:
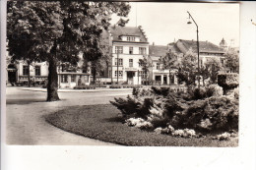
[[[58,86],[60,88],[74,87],[76,85],[90,85],[90,73],[83,73],[81,70],[70,71],[58,66]],[[7,64],[7,84],[11,85],[28,85],[29,78],[32,85],[43,85],[48,78],[47,62],[32,63],[30,66],[27,62],[21,60],[15,63]]]

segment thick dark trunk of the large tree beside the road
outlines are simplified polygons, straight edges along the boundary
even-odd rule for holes
[[[59,100],[58,96],[58,74],[57,74],[57,62],[54,58],[49,60],[49,74],[47,85],[47,101]]]

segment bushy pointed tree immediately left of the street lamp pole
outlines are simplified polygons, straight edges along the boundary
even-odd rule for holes
[[[181,59],[177,77],[186,85],[195,85],[197,71],[197,56],[189,50]]]

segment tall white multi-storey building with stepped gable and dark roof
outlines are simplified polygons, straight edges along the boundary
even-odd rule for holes
[[[144,72],[140,59],[149,55],[149,42],[141,27],[109,28],[112,63],[109,77],[113,83],[141,85]]]

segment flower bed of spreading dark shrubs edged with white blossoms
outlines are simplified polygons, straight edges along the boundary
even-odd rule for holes
[[[127,125],[160,134],[187,138],[238,131],[238,97],[223,95],[219,85],[189,88],[189,92],[144,86],[110,103],[121,111]]]

